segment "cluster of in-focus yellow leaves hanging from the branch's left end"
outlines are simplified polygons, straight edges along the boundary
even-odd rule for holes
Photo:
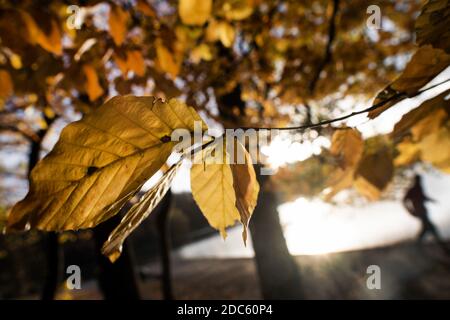
[[[32,170],[30,190],[10,213],[8,230],[47,231],[92,228],[117,214],[172,153],[176,129],[194,133],[197,112],[177,100],[115,97],[69,124],[53,150]],[[225,228],[241,221],[246,229],[259,191],[245,148],[243,164],[201,159],[191,169],[192,194],[203,214],[225,237]],[[223,150],[222,157],[229,157]],[[125,238],[148,216],[170,187],[181,161],[127,212],[105,243],[112,260]]]

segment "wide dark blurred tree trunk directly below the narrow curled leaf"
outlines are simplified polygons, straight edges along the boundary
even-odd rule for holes
[[[99,266],[98,282],[105,300],[138,300],[140,293],[134,269],[134,256],[127,241],[123,244],[122,254],[114,263],[101,253],[103,243],[120,220],[121,216],[117,214],[93,229]]]

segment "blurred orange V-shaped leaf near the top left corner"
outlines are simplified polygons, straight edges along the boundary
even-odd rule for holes
[[[28,12],[20,11],[20,14],[28,31],[28,41],[60,56],[62,54],[62,34],[57,21],[54,19],[50,21],[50,32],[46,34]]]

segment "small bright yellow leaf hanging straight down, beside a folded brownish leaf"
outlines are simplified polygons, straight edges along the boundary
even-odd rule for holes
[[[229,155],[224,148],[219,152],[224,161],[194,163],[191,168],[191,190],[208,223],[226,238],[226,228],[240,221],[236,208],[236,194],[233,187],[233,173]]]

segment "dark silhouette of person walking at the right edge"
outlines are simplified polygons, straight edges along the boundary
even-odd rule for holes
[[[406,210],[414,217],[420,219],[422,226],[418,235],[418,242],[422,242],[427,235],[431,233],[436,239],[437,243],[444,249],[447,254],[450,254],[445,242],[442,240],[436,227],[431,222],[428,216],[428,210],[425,207],[425,202],[436,202],[434,199],[425,195],[422,188],[422,178],[416,174],[414,177],[414,183],[411,188],[406,192],[403,198],[403,205]]]

